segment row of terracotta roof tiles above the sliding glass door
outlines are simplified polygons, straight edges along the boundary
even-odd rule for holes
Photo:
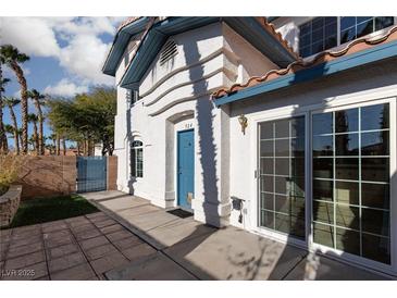
[[[241,89],[252,87],[255,85],[270,82],[272,79],[282,77],[284,75],[293,74],[296,72],[299,72],[305,69],[310,69],[317,64],[321,64],[324,62],[330,62],[332,60],[338,59],[339,57],[352,54],[355,52],[359,52],[372,47],[375,47],[376,45],[388,42],[392,40],[397,40],[397,26],[393,26],[390,29],[388,29],[385,34],[379,36],[370,36],[370,37],[363,37],[356,39],[348,44],[346,47],[339,50],[328,50],[323,51],[319,54],[317,54],[313,59],[310,61],[303,61],[302,59],[299,59],[298,61],[295,61],[290,63],[286,69],[283,70],[271,70],[268,73],[265,73],[263,76],[252,76],[248,79],[245,84],[234,84],[229,88],[222,88],[215,92],[212,94],[212,98],[216,99],[236,91],[239,91]]]

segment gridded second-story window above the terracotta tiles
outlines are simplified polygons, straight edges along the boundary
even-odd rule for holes
[[[394,24],[394,16],[315,17],[299,26],[299,53],[310,57]]]

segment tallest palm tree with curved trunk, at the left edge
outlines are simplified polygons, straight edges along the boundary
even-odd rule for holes
[[[12,45],[4,45],[0,47],[1,62],[8,65],[16,76],[21,86],[21,110],[22,110],[22,152],[27,153],[27,84],[24,76],[24,71],[21,67],[21,63],[29,60],[29,57],[21,53],[18,49]]]

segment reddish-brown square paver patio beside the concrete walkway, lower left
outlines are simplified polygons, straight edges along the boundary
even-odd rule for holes
[[[0,231],[1,280],[104,280],[157,250],[102,212]]]

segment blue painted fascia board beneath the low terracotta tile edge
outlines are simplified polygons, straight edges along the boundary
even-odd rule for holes
[[[325,62],[313,67],[301,70],[295,74],[282,76],[268,83],[259,84],[229,96],[224,96],[214,100],[216,107],[244,100],[257,95],[289,87],[298,83],[312,80],[328,76],[342,71],[347,71],[357,66],[373,63],[383,59],[397,57],[397,40],[379,45],[357,53],[347,54],[336,60]]]

